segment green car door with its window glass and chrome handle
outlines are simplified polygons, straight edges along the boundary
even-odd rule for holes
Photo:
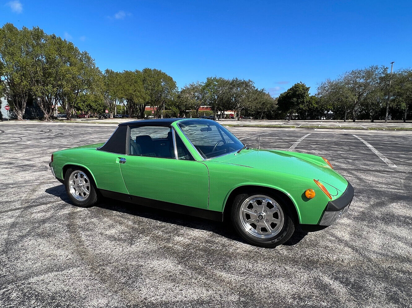
[[[175,146],[171,128],[131,126],[128,134],[128,155],[120,169],[130,195],[208,208],[208,169],[193,159],[180,139]]]

